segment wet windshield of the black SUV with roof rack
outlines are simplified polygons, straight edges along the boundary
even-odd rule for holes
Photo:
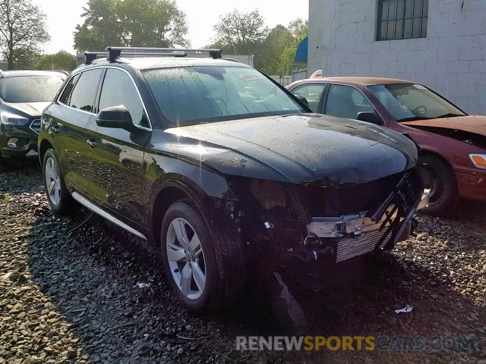
[[[173,126],[308,112],[254,68],[175,67],[142,74]]]

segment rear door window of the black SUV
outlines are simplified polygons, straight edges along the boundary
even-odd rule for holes
[[[70,107],[94,113],[96,92],[102,72],[102,68],[96,68],[81,73],[69,99]]]

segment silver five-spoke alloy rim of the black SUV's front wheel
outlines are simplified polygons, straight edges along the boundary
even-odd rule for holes
[[[206,286],[204,251],[191,224],[175,218],[167,231],[167,259],[172,278],[182,294],[191,300],[200,298]]]

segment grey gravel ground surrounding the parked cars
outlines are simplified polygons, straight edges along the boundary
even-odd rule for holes
[[[96,215],[85,221],[83,209],[52,215],[35,165],[4,173],[0,364],[486,364],[485,207],[464,203],[449,219],[419,215],[418,235],[365,265],[358,280],[296,294],[309,334],[463,335],[475,338],[475,350],[242,353],[235,335],[278,334],[258,308],[242,302],[223,317],[188,313],[168,288],[157,248]],[[411,313],[394,312],[406,304]]]

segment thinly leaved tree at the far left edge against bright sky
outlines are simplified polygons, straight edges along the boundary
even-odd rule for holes
[[[0,50],[9,68],[22,68],[51,37],[46,15],[30,0],[0,0]]]

